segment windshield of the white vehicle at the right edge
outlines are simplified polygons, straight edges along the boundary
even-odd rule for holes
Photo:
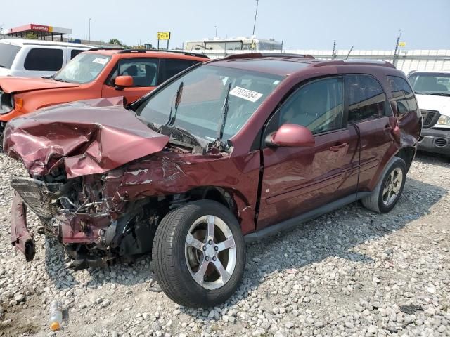
[[[450,95],[450,74],[416,73],[411,74],[409,81],[416,93]]]

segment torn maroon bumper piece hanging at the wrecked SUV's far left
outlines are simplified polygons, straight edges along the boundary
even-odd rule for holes
[[[11,242],[25,254],[27,262],[33,260],[36,249],[32,234],[27,228],[27,206],[18,194],[14,195],[11,209]]]

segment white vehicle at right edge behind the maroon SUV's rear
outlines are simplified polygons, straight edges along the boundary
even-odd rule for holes
[[[450,158],[450,72],[411,72],[408,79],[423,116],[419,150]]]

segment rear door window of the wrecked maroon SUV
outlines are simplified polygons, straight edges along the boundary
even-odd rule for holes
[[[347,75],[349,122],[359,122],[385,116],[385,92],[370,75]]]

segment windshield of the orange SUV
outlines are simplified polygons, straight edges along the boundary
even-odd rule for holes
[[[109,56],[95,53],[81,53],[63,67],[53,79],[71,83],[88,83],[96,79],[110,60]]]

